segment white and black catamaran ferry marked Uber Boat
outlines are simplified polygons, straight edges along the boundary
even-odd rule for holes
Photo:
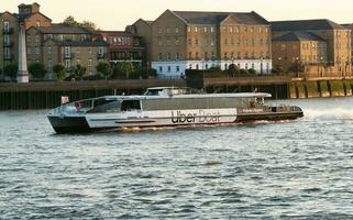
[[[184,88],[150,88],[143,96],[106,96],[62,105],[47,114],[57,133],[295,120],[295,106],[269,107],[269,94],[189,94]]]

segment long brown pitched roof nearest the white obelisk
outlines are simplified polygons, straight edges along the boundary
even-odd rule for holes
[[[67,25],[34,26],[33,29],[43,34],[90,34],[86,29]]]

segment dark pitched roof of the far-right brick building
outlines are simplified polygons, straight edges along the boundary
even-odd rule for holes
[[[345,28],[333,21],[321,20],[297,20],[297,21],[273,21],[272,31],[306,31],[306,30],[344,30]]]

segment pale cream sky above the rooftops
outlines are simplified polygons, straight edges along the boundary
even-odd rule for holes
[[[18,12],[35,0],[0,0],[0,12]],[[185,11],[256,11],[268,21],[330,19],[353,23],[352,0],[36,0],[53,22],[66,16],[88,20],[102,30],[124,30],[137,19],[155,20],[166,9]]]

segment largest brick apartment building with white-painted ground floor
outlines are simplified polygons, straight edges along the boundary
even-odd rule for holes
[[[137,33],[150,29],[148,62],[161,76],[180,77],[186,69],[227,69],[231,64],[261,74],[272,69],[269,23],[256,12],[167,10],[154,22],[139,20],[134,26]]]

